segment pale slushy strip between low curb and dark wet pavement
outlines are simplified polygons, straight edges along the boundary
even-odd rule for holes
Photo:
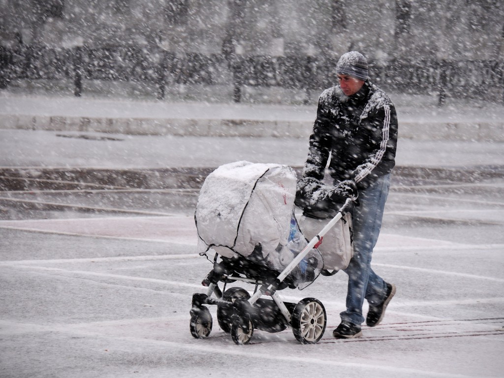
[[[247,160],[302,166],[307,139],[134,136],[0,130],[0,167],[217,167]],[[471,168],[504,164],[504,142],[400,139],[397,164]]]

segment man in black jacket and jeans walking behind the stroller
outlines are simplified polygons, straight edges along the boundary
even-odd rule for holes
[[[361,53],[343,54],[336,72],[339,85],[326,89],[319,99],[296,204],[306,214],[310,206],[314,211],[336,207],[342,197],[358,192],[359,204],[352,210],[354,256],[344,269],[348,274],[347,309],[333,332],[336,338],[348,339],[362,336],[364,298],[369,303],[366,324],[374,327],[382,321],[396,292],[370,265],[395,165],[398,125],[390,98],[369,82],[367,61]],[[322,183],[329,159],[333,186]]]

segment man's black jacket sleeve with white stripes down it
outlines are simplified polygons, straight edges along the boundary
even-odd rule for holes
[[[371,178],[387,174],[395,165],[397,114],[394,105],[385,104],[369,117],[372,137],[369,154],[351,176],[359,187],[367,187]]]

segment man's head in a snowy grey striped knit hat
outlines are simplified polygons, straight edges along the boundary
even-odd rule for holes
[[[360,52],[341,55],[336,65],[341,90],[347,96],[357,93],[367,79],[367,60]]]

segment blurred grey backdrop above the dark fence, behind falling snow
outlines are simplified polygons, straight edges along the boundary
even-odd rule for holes
[[[501,0],[0,0],[0,44],[135,46],[174,56],[504,57]],[[222,73],[225,75],[225,73]]]

